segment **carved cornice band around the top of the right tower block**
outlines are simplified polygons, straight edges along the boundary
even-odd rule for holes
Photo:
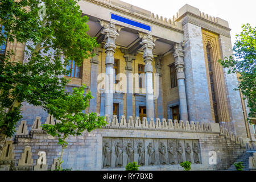
[[[218,23],[211,22],[208,19],[202,18],[201,16],[197,16],[193,13],[186,12],[183,15],[181,15],[179,18],[175,20],[175,22],[182,20],[182,24],[186,23],[192,23],[196,26],[199,26],[205,30],[224,35],[228,38],[230,38],[230,28],[222,26]]]

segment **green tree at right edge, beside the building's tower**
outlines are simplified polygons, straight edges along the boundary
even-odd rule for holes
[[[247,99],[250,108],[249,118],[255,118],[256,113],[256,27],[250,24],[242,26],[240,35],[236,35],[233,47],[234,55],[219,60],[219,63],[228,68],[228,73],[239,73],[241,80],[238,88],[241,89],[243,100]],[[249,119],[250,120],[250,119]]]

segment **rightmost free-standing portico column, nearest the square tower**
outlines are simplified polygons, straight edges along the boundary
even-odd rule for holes
[[[181,120],[188,121],[188,107],[185,90],[184,53],[182,43],[174,46],[175,67],[177,72],[177,84],[179,86],[180,116]]]

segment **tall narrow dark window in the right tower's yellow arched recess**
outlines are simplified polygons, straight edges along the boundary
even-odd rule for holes
[[[210,90],[212,92],[212,102],[213,102],[213,111],[214,111],[214,119],[215,122],[218,123],[218,111],[217,111],[217,101],[216,101],[216,93],[214,90],[214,80],[213,80],[213,69],[212,69],[212,60],[210,58],[210,49],[207,46],[207,60],[208,60],[208,68],[209,68],[209,77],[210,77]]]

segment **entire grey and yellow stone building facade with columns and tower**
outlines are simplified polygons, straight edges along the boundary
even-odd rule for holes
[[[108,125],[69,138],[63,167],[117,170],[135,161],[144,170],[179,170],[179,163],[188,160],[195,170],[225,169],[246,143],[256,149],[255,125],[247,123],[246,103],[234,90],[237,75],[217,63],[232,55],[228,22],[190,5],[171,19],[119,0],[79,5],[89,17],[88,35],[96,36],[101,47],[80,68],[71,61],[66,90],[88,86],[94,98],[86,112],[106,116]],[[13,60],[23,59],[24,48],[6,45],[15,50]],[[109,83],[101,73],[116,79]],[[118,73],[123,73],[119,79]],[[22,110],[0,165],[54,168],[61,148],[39,126],[54,125],[55,119],[27,103]],[[46,152],[48,166],[38,167],[39,151]]]

